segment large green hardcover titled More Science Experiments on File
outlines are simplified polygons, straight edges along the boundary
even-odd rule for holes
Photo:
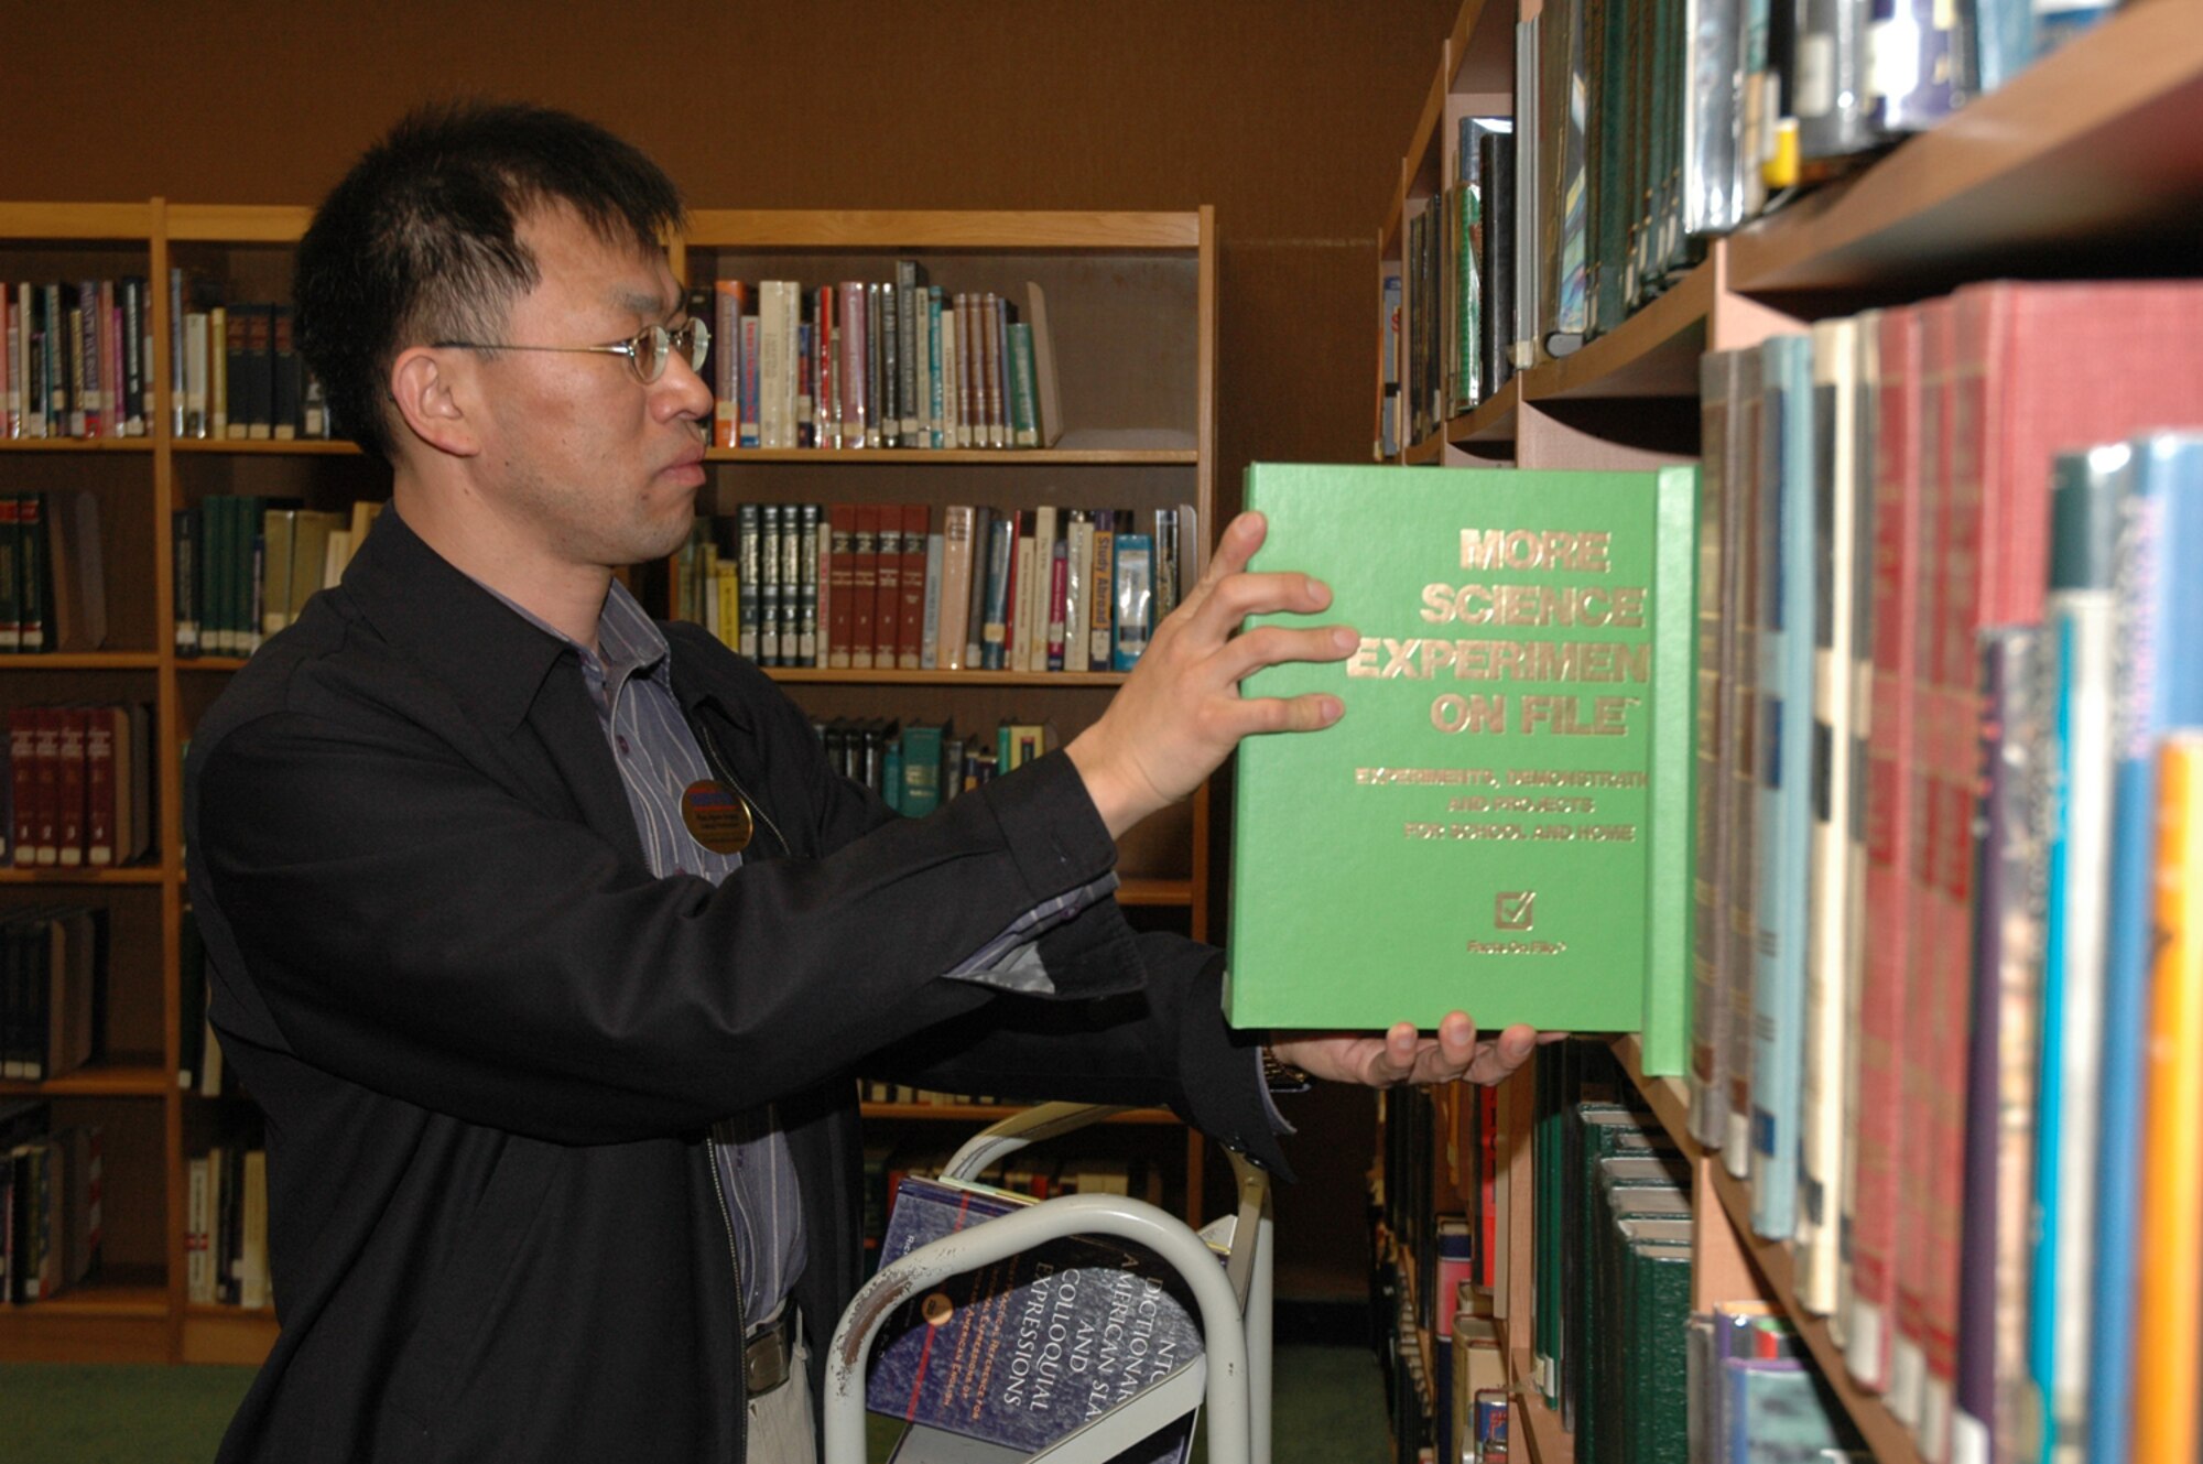
[[[1254,465],[1247,507],[1361,644],[1245,683],[1346,717],[1240,745],[1227,1019],[1458,1008],[1681,1072],[1696,470]]]

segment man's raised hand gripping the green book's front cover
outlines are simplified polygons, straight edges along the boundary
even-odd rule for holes
[[[1240,697],[1238,683],[1280,661],[1344,661],[1355,631],[1262,626],[1247,615],[1315,615],[1331,589],[1302,573],[1245,573],[1262,545],[1262,516],[1240,514],[1185,602],[1148,637],[1139,666],[1108,710],[1064,747],[1110,836],[1179,803],[1249,732],[1313,732],[1339,719],[1337,697]]]

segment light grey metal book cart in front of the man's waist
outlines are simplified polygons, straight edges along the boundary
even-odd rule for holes
[[[1027,1109],[965,1142],[943,1177],[976,1180],[1027,1144],[1084,1129],[1119,1111],[1079,1102],[1049,1102]],[[1157,1429],[1207,1404],[1209,1464],[1269,1464],[1273,1266],[1269,1175],[1240,1153],[1229,1153],[1229,1158],[1238,1208],[1198,1235],[1183,1219],[1143,1199],[1062,1195],[941,1237],[883,1266],[848,1303],[842,1325],[833,1334],[833,1354],[826,1360],[822,1455],[826,1464],[864,1464],[866,1360],[881,1325],[901,1303],[947,1277],[991,1266],[1066,1235],[1137,1241],[1172,1266],[1198,1303],[1201,1356],[1181,1363],[1139,1396],[1035,1455],[912,1427],[912,1433],[897,1449],[897,1457],[912,1460],[912,1444],[919,1444],[919,1455],[943,1462],[1108,1464]],[[1223,1266],[1216,1263],[1212,1244],[1227,1252]]]

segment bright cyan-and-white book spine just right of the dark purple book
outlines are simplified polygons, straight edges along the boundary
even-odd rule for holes
[[[2051,470],[2051,578],[2042,606],[2049,842],[2042,1045],[2036,1067],[2036,1237],[2027,1371],[2038,1464],[2088,1420],[2088,1294],[2095,1268],[2095,1140],[2104,1056],[2104,878],[2110,842],[2113,545],[2128,448],[2060,454]]]

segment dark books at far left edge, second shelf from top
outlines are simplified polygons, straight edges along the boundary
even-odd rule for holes
[[[99,496],[0,494],[0,655],[84,653],[106,644]]]

